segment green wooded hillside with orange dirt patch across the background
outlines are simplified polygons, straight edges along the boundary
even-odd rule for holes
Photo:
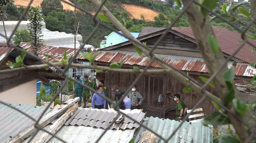
[[[18,3],[18,1],[22,0],[17,0],[17,2],[14,3]],[[220,1],[224,2],[224,0]],[[42,7],[43,15],[45,15],[44,19],[47,29],[51,31],[74,33],[74,12],[72,9],[67,8],[67,6],[64,5],[65,10],[59,0],[35,0],[35,2],[37,2],[35,6],[38,6],[38,3],[41,2],[40,6]],[[70,2],[74,3],[74,0],[70,0]],[[168,27],[181,12],[178,7],[173,8],[172,3],[173,0],[167,0],[166,5],[152,0],[107,0],[105,6],[130,32],[140,32],[143,26]],[[86,0],[77,2],[77,4],[92,13],[96,11],[96,7]],[[221,6],[220,4],[216,10],[219,10],[219,7]],[[3,7],[3,11],[9,15],[5,20],[18,20],[24,9],[25,8],[21,5],[19,5],[19,7],[13,5],[11,8]],[[151,11],[152,13],[148,15],[145,14],[149,13],[149,9],[154,11]],[[134,11],[135,13],[133,13]],[[217,12],[220,12],[220,10]],[[26,18],[23,20],[26,20]],[[80,22],[81,25],[78,29],[78,33],[81,34],[83,40],[85,40],[95,27],[95,23],[88,15],[82,12],[76,14],[76,21],[77,23]],[[115,28],[112,24],[105,23]],[[229,30],[235,31],[232,27],[222,23],[220,20],[212,22],[212,24],[214,26],[223,26]],[[189,27],[189,22],[187,21],[186,16],[183,15],[174,27]],[[111,32],[112,31],[104,27],[100,27],[86,44],[99,47],[99,43],[104,39],[104,36],[109,35]]]

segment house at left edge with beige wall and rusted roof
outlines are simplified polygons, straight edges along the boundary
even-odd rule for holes
[[[6,65],[7,61],[15,63],[16,57],[21,55],[22,47],[14,46],[18,50],[12,49],[9,52],[10,48],[6,44],[0,44],[0,63],[2,63],[0,72],[10,69]],[[43,64],[28,54],[24,57],[23,63],[26,66]],[[64,78],[52,69],[3,72],[0,74],[0,100],[14,104],[36,105],[36,79],[48,83],[48,79],[63,80]]]

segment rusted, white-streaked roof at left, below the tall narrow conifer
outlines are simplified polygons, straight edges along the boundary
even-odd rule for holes
[[[22,42],[19,46],[21,46],[23,49],[29,48],[28,51],[31,52],[30,49],[31,45],[26,42]],[[66,47],[54,47],[54,46],[48,46],[48,45],[42,45],[40,47],[41,51],[39,52],[39,57],[43,60],[45,60],[45,53],[50,54],[52,58],[49,59],[49,62],[53,61],[61,61],[61,58],[64,55],[64,52],[66,50],[67,56],[74,56],[74,48],[66,48]],[[76,49],[76,52],[79,50]]]

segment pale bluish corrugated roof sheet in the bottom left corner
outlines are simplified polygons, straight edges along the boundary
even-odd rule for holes
[[[9,103],[7,103],[9,104]],[[29,114],[31,117],[38,119],[45,109],[44,106],[33,106],[24,104],[11,104],[13,107]],[[48,113],[50,109],[47,110]],[[34,121],[24,114],[10,108],[4,104],[0,104],[0,141],[6,143],[16,136],[21,130],[33,124]]]

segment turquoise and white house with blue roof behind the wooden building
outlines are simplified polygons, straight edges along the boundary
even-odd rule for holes
[[[119,31],[119,33],[122,34],[121,31]],[[138,34],[139,34],[139,33],[134,33],[134,32],[130,32],[130,33],[135,38],[137,38]],[[108,36],[105,36],[104,40],[102,40],[102,42],[100,42],[100,48],[109,47],[111,45],[116,45],[116,44],[119,44],[121,42],[125,42],[125,41],[128,41],[128,40],[129,39],[127,39],[126,37],[118,34],[117,32],[112,32]]]

